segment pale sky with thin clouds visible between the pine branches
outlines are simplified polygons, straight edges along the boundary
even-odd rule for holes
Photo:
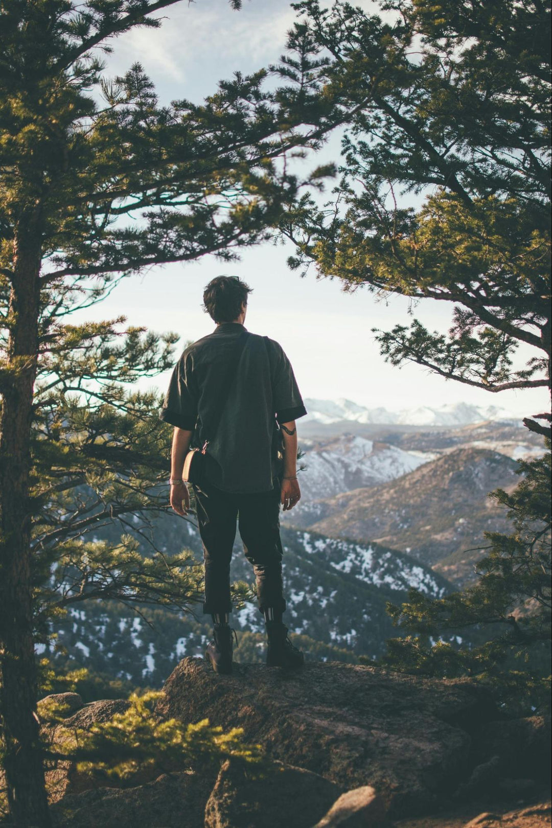
[[[369,0],[355,5],[376,9]],[[277,60],[295,11],[285,0],[244,0],[239,12],[224,0],[183,0],[163,10],[162,17],[160,29],[131,31],[113,41],[113,55],[106,59],[108,73],[121,74],[139,60],[162,103],[182,98],[199,103],[216,91],[219,79],[231,78],[236,70],[247,74]],[[338,161],[337,153],[338,142],[330,142],[324,161],[330,157]],[[290,246],[263,243],[243,251],[241,261],[231,264],[205,256],[197,262],[153,267],[122,279],[97,306],[76,312],[74,321],[122,313],[127,325],[144,325],[157,333],[176,331],[181,336],[175,346],[176,361],[186,342],[214,330],[201,308],[204,286],[223,273],[238,275],[253,289],[247,330],[281,343],[304,398],[346,397],[391,411],[468,402],[525,415],[546,406],[546,392],[541,389],[495,394],[445,381],[412,363],[393,368],[380,356],[371,329],[410,324],[409,302],[401,296],[377,301],[362,288],[345,293],[340,282],[317,279],[314,270],[301,278],[286,265],[290,253]],[[451,311],[448,303],[425,300],[415,308],[415,316],[432,330],[444,332]],[[529,349],[523,353],[533,355]],[[157,388],[164,394],[169,377],[170,371],[143,378],[139,387]]]

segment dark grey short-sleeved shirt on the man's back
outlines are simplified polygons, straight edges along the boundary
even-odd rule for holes
[[[181,354],[173,368],[159,416],[204,441],[205,421],[218,403],[218,388],[233,363],[244,327],[225,322]],[[270,491],[276,471],[272,450],[277,422],[306,414],[293,368],[281,345],[248,333],[222,416],[207,447],[207,478],[223,491]],[[203,433],[202,433],[203,432]]]

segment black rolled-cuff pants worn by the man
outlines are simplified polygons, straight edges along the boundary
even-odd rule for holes
[[[204,613],[229,613],[230,561],[236,519],[243,551],[257,578],[260,612],[286,609],[283,595],[280,540],[280,484],[270,492],[234,494],[210,484],[194,484],[199,535],[204,547]]]

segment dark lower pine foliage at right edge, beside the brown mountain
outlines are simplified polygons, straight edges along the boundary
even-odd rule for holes
[[[385,663],[426,675],[478,676],[511,710],[550,706],[550,440],[546,443],[543,457],[520,463],[523,479],[516,489],[492,492],[507,508],[513,531],[485,532],[490,546],[478,563],[478,583],[438,600],[412,590],[406,604],[388,604],[394,623],[415,634],[388,642]],[[475,631],[481,643],[458,647],[435,641],[465,629]]]

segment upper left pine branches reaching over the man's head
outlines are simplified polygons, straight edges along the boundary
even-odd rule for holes
[[[298,183],[274,157],[319,147],[333,123],[318,80],[304,82],[306,53],[303,75],[283,88],[264,89],[265,70],[237,72],[200,105],[161,104],[139,63],[105,75],[98,51],[123,31],[159,26],[152,13],[175,2],[2,6],[2,273],[12,278],[17,238],[31,234],[45,310],[58,291],[74,301],[86,276],[102,277],[90,282],[94,301],[115,273],[204,253],[231,260],[232,248],[266,238]],[[41,209],[31,221],[32,204]]]

